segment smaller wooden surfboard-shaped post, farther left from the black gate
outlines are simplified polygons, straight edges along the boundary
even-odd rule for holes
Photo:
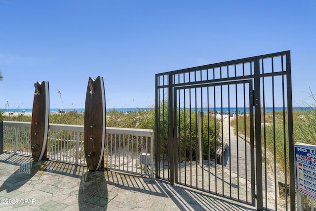
[[[49,84],[37,82],[32,109],[31,152],[34,161],[46,158],[49,122]]]

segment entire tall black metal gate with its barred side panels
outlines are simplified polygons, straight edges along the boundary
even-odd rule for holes
[[[157,179],[294,210],[292,127],[290,51],[156,75]]]

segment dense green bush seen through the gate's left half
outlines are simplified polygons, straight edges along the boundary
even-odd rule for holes
[[[164,103],[160,103],[158,108],[158,153],[163,158],[168,158],[168,150],[170,148],[168,122],[169,114],[167,108],[168,104],[166,101]],[[190,109],[178,109],[176,113],[178,158],[181,161],[197,160],[199,159],[198,112]],[[155,117],[154,114],[153,117]],[[215,122],[217,123],[217,126],[220,125],[218,120],[214,120],[214,118],[210,118],[207,113],[203,113],[201,117],[201,140],[204,160],[214,159],[216,146],[220,145],[220,128],[215,128]]]

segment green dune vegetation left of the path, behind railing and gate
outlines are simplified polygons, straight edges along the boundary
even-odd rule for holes
[[[164,114],[162,114],[164,112]],[[160,120],[159,120],[159,150],[160,153],[168,154],[168,117],[167,109],[160,106]],[[164,119],[163,119],[164,118]],[[178,147],[180,149],[180,158],[197,159],[198,155],[198,128],[197,128],[197,112],[190,110],[180,110],[178,113],[179,127],[178,127]],[[26,114],[4,116],[5,121],[16,122],[31,122],[32,116]],[[155,109],[138,110],[133,112],[120,112],[116,109],[106,112],[106,127],[120,127],[120,128],[141,128],[152,129],[155,131]],[[84,125],[84,113],[69,111],[65,113],[54,113],[49,115],[50,124],[66,124],[66,125]],[[220,124],[217,123],[219,126]],[[219,146],[219,142],[215,141],[220,137],[219,127],[215,129],[215,120],[208,118],[207,114],[203,115],[202,121],[202,142],[204,159],[215,157],[215,146]],[[62,134],[63,132],[61,132]]]

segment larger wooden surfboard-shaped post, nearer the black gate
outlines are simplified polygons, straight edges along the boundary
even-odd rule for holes
[[[105,91],[102,77],[89,78],[84,107],[84,154],[89,170],[100,168],[105,142]]]

